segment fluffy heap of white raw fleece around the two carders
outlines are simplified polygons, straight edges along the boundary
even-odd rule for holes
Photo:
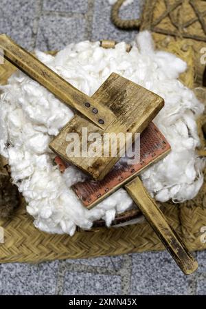
[[[194,198],[203,184],[205,162],[195,154],[199,145],[196,117],[203,105],[177,80],[186,63],[168,52],[155,52],[149,32],[141,32],[126,52],[125,43],[113,50],[100,43],[70,44],[56,56],[36,51],[38,58],[73,86],[91,96],[116,72],[162,96],[165,107],[155,123],[170,142],[172,151],[150,167],[141,178],[156,200],[174,202]],[[88,211],[70,189],[84,174],[69,167],[61,174],[54,165],[49,141],[73,116],[73,112],[47,89],[14,73],[1,86],[0,152],[10,163],[12,178],[27,202],[34,225],[49,233],[73,235],[76,226],[89,229],[103,218],[109,226],[115,213],[133,206],[124,189]]]

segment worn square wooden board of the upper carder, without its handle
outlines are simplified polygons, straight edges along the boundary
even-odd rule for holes
[[[75,164],[85,173],[89,173],[95,179],[102,179],[104,175],[111,170],[114,164],[119,160],[119,151],[121,147],[117,145],[117,156],[115,157],[72,157],[67,156],[66,141],[67,134],[77,132],[80,136],[80,144],[82,144],[82,127],[87,127],[88,134],[99,133],[115,133],[126,132],[141,133],[158,114],[164,105],[163,98],[157,96],[153,92],[137,85],[128,79],[112,73],[102,86],[92,96],[95,102],[105,102],[108,109],[115,114],[115,119],[106,130],[101,131],[92,123],[80,118],[78,115],[60,131],[60,134],[50,143],[50,148],[55,151],[58,156],[64,160]],[[89,147],[89,142],[85,147]],[[108,141],[111,147],[111,140]],[[106,142],[104,142],[104,145]],[[103,142],[102,142],[103,147]],[[111,154],[111,153],[110,153]]]

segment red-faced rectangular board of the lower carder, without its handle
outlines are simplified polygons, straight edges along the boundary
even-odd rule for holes
[[[87,209],[111,195],[126,182],[132,180],[150,164],[161,160],[170,151],[170,144],[153,122],[141,133],[140,137],[140,160],[137,164],[117,164],[104,177],[103,180],[87,180],[73,184],[75,191],[82,204]]]

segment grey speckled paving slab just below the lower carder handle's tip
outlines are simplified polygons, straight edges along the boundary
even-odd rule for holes
[[[133,254],[132,295],[187,295],[188,288],[168,252]]]

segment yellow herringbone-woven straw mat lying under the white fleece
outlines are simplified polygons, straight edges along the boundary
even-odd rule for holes
[[[102,41],[102,47],[114,47],[113,41]],[[130,46],[128,46],[130,50]],[[192,49],[184,50],[183,43],[170,43],[165,50],[179,55],[190,64],[189,69],[181,79],[186,85],[193,85],[194,64]],[[0,65],[0,83],[7,83],[8,77],[15,68],[5,61]],[[196,89],[200,98],[206,97],[205,89]],[[202,123],[202,122],[201,122]],[[200,134],[202,126],[199,125]],[[204,140],[205,142],[205,140]],[[204,151],[199,149],[198,151]],[[73,237],[68,235],[50,235],[34,227],[33,218],[25,209],[25,201],[8,219],[1,219],[0,226],[5,231],[5,242],[0,244],[0,262],[42,262],[53,259],[77,259],[83,257],[99,257],[104,255],[119,255],[124,253],[163,250],[157,235],[150,225],[144,221],[118,228],[99,227],[104,222],[95,222],[95,228],[90,231],[77,231]],[[197,197],[183,204],[172,202],[161,204],[168,222],[179,233],[183,242],[190,250],[206,248],[206,183]],[[132,214],[137,217],[139,211]],[[125,218],[126,215],[123,215]],[[116,220],[118,222],[118,220]],[[115,223],[117,223],[115,222]],[[98,227],[97,227],[98,226]],[[205,239],[205,241],[204,241]]]

